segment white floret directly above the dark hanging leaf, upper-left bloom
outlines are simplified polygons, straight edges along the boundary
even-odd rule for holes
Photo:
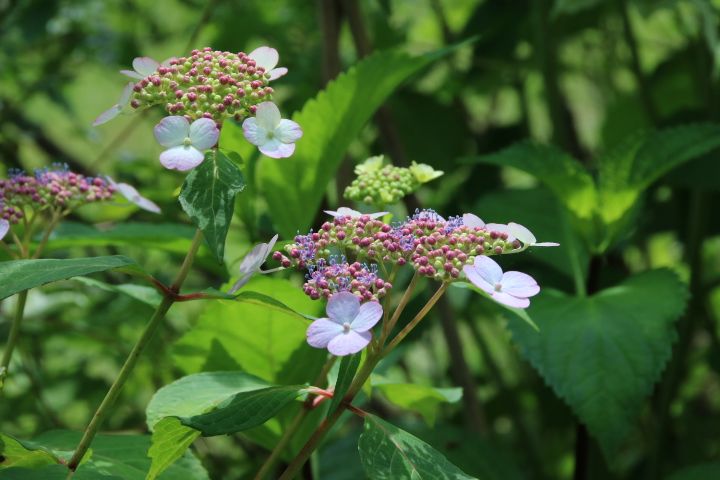
[[[180,116],[163,118],[154,132],[158,143],[167,148],[160,154],[160,163],[181,172],[200,165],[205,159],[205,150],[213,147],[220,136],[213,120],[200,118],[191,124]]]

